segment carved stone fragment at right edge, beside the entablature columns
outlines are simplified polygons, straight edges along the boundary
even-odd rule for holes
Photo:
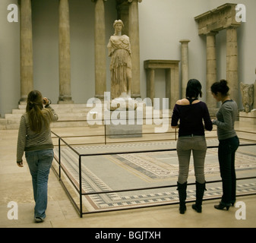
[[[245,108],[245,112],[251,112],[254,103],[254,84],[240,83],[242,93],[242,105]]]

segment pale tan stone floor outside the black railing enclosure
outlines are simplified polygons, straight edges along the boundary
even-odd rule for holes
[[[255,125],[246,122],[238,122],[236,128],[241,131],[256,131]],[[84,134],[90,134],[97,129],[54,128],[52,130],[64,136],[81,134],[81,131],[84,131]],[[216,133],[216,131],[212,133]],[[207,135],[211,136],[212,134]],[[255,137],[251,137],[255,134],[241,134],[241,136],[248,136],[249,139],[256,140]],[[157,137],[156,134],[155,137]],[[30,172],[27,163],[24,163],[24,168],[19,168],[16,165],[16,143],[17,130],[0,130],[0,227],[2,228],[256,227],[256,196],[238,197],[236,207],[230,207],[229,211],[214,209],[213,205],[218,204],[219,200],[207,200],[204,201],[202,213],[196,213],[191,209],[191,203],[188,203],[188,210],[184,215],[179,213],[178,205],[167,205],[109,213],[92,213],[80,218],[52,171],[49,175],[49,202],[46,220],[42,223],[35,223],[33,221],[34,202]],[[54,143],[57,143],[56,139],[54,139]],[[17,209],[17,215],[14,214],[15,209]],[[244,219],[241,219],[242,216]]]

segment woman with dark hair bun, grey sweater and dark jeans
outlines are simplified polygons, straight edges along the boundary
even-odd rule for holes
[[[229,97],[229,87],[226,80],[214,83],[211,87],[213,98],[221,101],[222,106],[216,113],[216,120],[212,120],[217,126],[219,139],[219,163],[220,176],[223,181],[223,197],[219,205],[214,207],[217,210],[229,210],[230,205],[235,204],[235,151],[239,147],[239,137],[234,129],[235,118],[238,115],[238,107],[234,100]]]

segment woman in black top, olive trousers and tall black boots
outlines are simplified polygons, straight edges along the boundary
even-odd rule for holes
[[[194,159],[196,178],[196,203],[192,208],[202,211],[205,190],[204,159],[207,151],[204,129],[213,129],[207,105],[198,99],[202,96],[201,83],[196,79],[188,80],[186,98],[179,99],[172,113],[172,128],[179,128],[177,153],[179,158],[179,212],[185,213],[187,197],[187,180],[191,151]],[[203,122],[204,121],[204,122]]]

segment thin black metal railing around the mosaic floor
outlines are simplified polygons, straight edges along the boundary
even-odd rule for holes
[[[106,131],[106,130],[105,130]],[[239,131],[237,130],[237,132],[240,133],[249,133],[249,134],[256,134],[256,132],[250,132],[250,131]],[[177,133],[177,131],[175,131],[175,134]],[[112,190],[112,191],[96,191],[96,192],[90,192],[90,193],[83,193],[82,192],[82,169],[81,169],[81,160],[82,157],[84,156],[103,156],[103,155],[112,155],[112,154],[125,154],[125,153],[150,153],[150,152],[165,152],[165,151],[175,151],[176,149],[163,149],[163,150],[140,150],[140,151],[128,151],[128,152],[109,152],[109,153],[90,153],[90,154],[81,154],[79,152],[77,152],[77,150],[74,149],[74,147],[72,147],[73,145],[77,145],[77,144],[68,144],[63,137],[58,136],[58,134],[56,134],[55,132],[52,131],[52,134],[55,135],[55,137],[58,138],[58,158],[55,156],[55,160],[58,163],[58,170],[54,168],[54,166],[52,166],[53,171],[55,172],[55,174],[58,176],[59,181],[61,182],[63,188],[65,189],[65,192],[68,194],[68,197],[70,198],[71,202],[74,204],[75,209],[77,210],[77,212],[80,214],[80,216],[82,217],[84,214],[88,214],[88,213],[103,213],[103,212],[109,212],[109,211],[113,211],[113,210],[127,210],[127,208],[123,208],[123,209],[109,209],[109,210],[96,210],[93,212],[84,212],[83,211],[83,196],[90,196],[93,194],[110,194],[110,193],[118,193],[118,192],[125,192],[125,191],[143,191],[143,190],[152,190],[152,189],[160,189],[160,188],[173,188],[176,187],[177,185],[165,185],[165,186],[158,186],[158,187],[150,187],[150,188],[131,188],[131,189],[125,189],[125,190]],[[151,134],[151,133],[149,133]],[[122,134],[123,135],[123,134]],[[102,136],[102,135],[96,135],[96,136]],[[96,137],[93,136],[93,137]],[[66,136],[66,137],[71,137],[71,136]],[[76,136],[76,137],[84,137],[84,136]],[[90,136],[91,137],[91,136]],[[106,134],[105,134],[106,137]],[[177,134],[175,135],[175,139],[177,137]],[[240,137],[239,137],[240,138]],[[240,144],[240,147],[245,147],[245,146],[256,146],[256,140],[255,139],[246,139],[251,142],[251,144]],[[145,140],[142,140],[143,142],[145,142]],[[148,140],[147,140],[148,141]],[[153,140],[150,140],[153,141]],[[129,142],[129,141],[125,141],[125,142]],[[134,141],[134,142],[137,142]],[[71,179],[71,177],[68,175],[68,172],[65,170],[65,168],[63,168],[62,166],[62,143],[68,147],[69,149],[71,149],[75,154],[77,154],[78,156],[78,186],[75,185],[74,181]],[[110,142],[109,144],[112,144],[113,142]],[[119,142],[120,143],[120,142]],[[91,143],[90,143],[91,144]],[[106,138],[104,140],[104,143],[96,143],[96,144],[107,144],[106,143]],[[79,144],[81,145],[81,144]],[[207,147],[208,149],[211,148],[217,148],[218,146],[209,146]],[[72,197],[70,191],[68,191],[67,186],[65,185],[64,180],[62,179],[62,172],[65,173],[66,178],[68,178],[68,180],[71,182],[71,185],[73,185],[75,191],[77,191],[77,193],[79,194],[79,204],[77,204],[77,202],[74,200],[74,198]],[[247,179],[254,179],[255,177],[245,177],[245,178],[237,178],[237,180],[247,180]],[[221,180],[217,180],[217,181],[207,181],[207,184],[210,183],[216,183],[216,182],[221,182]],[[195,185],[195,183],[189,183],[188,185]],[[242,196],[248,196],[248,195],[255,195],[256,191],[253,193],[249,193],[249,194],[239,194],[237,195],[237,197],[242,197]],[[211,198],[207,198],[204,200],[216,200],[219,199],[220,197],[211,197]],[[188,202],[193,202],[194,200],[188,200]],[[155,204],[155,205],[141,205],[141,206],[137,206],[135,208],[143,208],[143,207],[156,207],[156,206],[163,206],[163,205],[171,205],[171,204],[179,204],[178,202],[173,202],[173,203],[161,203],[161,204]],[[129,208],[131,209],[131,208]]]

